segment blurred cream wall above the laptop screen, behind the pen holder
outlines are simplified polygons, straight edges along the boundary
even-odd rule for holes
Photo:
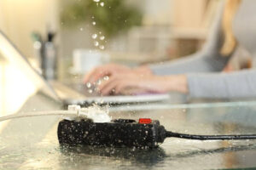
[[[32,31],[46,34],[58,29],[57,0],[1,0],[0,30],[27,57],[33,56]]]

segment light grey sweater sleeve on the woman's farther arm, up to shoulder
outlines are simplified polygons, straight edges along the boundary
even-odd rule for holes
[[[222,44],[221,20],[224,3],[220,3],[217,16],[212,23],[207,42],[201,51],[175,59],[169,62],[156,65],[149,65],[151,71],[156,75],[182,74],[188,72],[212,72],[221,71],[226,65],[229,57],[223,57],[219,54],[219,48]]]

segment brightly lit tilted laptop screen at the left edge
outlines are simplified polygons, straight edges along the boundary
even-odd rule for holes
[[[26,110],[26,102],[38,94],[58,100],[44,78],[0,31],[0,115]],[[32,105],[37,105],[37,102]]]

